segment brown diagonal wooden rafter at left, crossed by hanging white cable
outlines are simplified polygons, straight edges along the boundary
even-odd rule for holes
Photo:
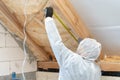
[[[16,16],[10,12],[10,10],[7,8],[7,6],[0,0],[0,11],[4,15],[5,19],[12,24],[12,26],[8,27],[9,29],[15,29],[15,34],[18,35],[21,39],[24,38],[23,34],[23,27],[19,23],[19,20],[16,18]],[[7,22],[7,23],[8,23]],[[27,44],[28,47],[31,49],[33,54],[36,58],[38,58],[40,61],[48,61],[48,55],[46,52],[39,47],[32,38],[27,34]]]

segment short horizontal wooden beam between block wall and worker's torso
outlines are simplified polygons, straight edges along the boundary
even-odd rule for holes
[[[38,68],[42,69],[59,69],[57,62],[38,62]]]

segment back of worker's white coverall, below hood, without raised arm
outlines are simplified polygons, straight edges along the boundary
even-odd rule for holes
[[[69,56],[60,68],[59,80],[100,80],[101,70],[96,63],[80,55]]]

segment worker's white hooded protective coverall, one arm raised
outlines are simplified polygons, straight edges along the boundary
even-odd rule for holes
[[[45,28],[60,67],[59,80],[100,80],[101,70],[94,62],[101,51],[100,43],[85,38],[75,53],[63,44],[53,18],[45,19]]]

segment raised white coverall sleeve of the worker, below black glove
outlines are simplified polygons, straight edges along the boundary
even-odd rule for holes
[[[59,66],[61,66],[64,60],[66,60],[69,57],[72,51],[66,48],[65,45],[63,44],[53,18],[47,17],[45,19],[45,29],[53,53],[57,59]]]

